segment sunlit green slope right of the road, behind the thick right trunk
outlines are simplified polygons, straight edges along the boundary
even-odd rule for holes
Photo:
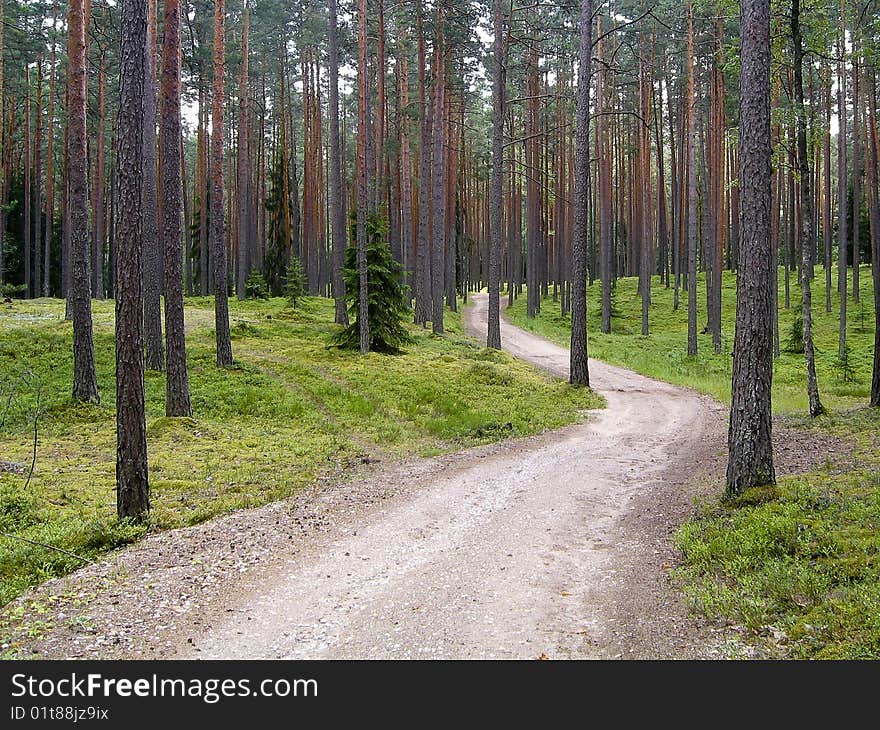
[[[781,270],[780,270],[781,271]],[[838,311],[840,298],[836,278],[832,293],[832,311],[825,311],[824,274],[816,269],[813,282],[813,337],[816,346],[816,371],[823,404],[829,409],[849,410],[863,406],[871,391],[871,369],[874,352],[873,289],[870,266],[860,271],[861,305],[850,300],[847,307],[848,335],[851,348],[849,368],[845,374],[838,361]],[[836,277],[836,270],[835,270]],[[793,414],[807,411],[804,356],[786,352],[786,341],[800,303],[797,276],[792,274],[791,306],[785,308],[783,274],[779,284],[780,356],[773,369],[773,409],[776,413]],[[850,276],[851,279],[851,276]],[[680,293],[681,306],[673,309],[673,290],[653,278],[649,313],[649,332],[641,335],[641,299],[638,278],[617,281],[612,306],[611,333],[601,328],[601,285],[588,289],[587,326],[590,357],[621,365],[652,378],[693,388],[701,393],[730,402],[730,380],[733,358],[733,333],[736,305],[736,276],[728,271],[722,279],[722,348],[715,354],[712,335],[700,334],[706,325],[705,277],[698,276],[697,285],[697,355],[687,356],[687,292]],[[850,282],[850,292],[852,285]],[[568,346],[571,318],[560,315],[559,305],[545,298],[540,314],[534,319],[526,315],[525,297],[519,297],[507,316],[523,329],[540,334],[548,340]]]

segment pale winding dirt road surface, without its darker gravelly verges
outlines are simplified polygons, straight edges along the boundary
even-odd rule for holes
[[[477,296],[468,310],[475,336],[486,309]],[[502,341],[567,377],[567,350],[508,323]],[[590,367],[607,409],[439,473],[402,475],[418,488],[337,525],[232,597],[184,655],[717,656],[709,629],[665,580],[677,519],[663,517],[691,497],[666,504],[664,477],[693,473],[717,437],[718,409],[627,370]]]

